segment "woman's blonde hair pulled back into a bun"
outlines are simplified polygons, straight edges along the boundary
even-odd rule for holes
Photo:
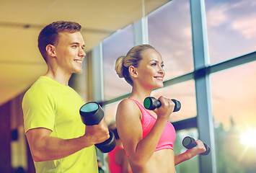
[[[151,45],[136,45],[131,50],[128,51],[126,56],[120,56],[115,61],[115,71],[118,74],[120,78],[125,78],[125,81],[128,82],[128,84],[131,84],[133,86],[133,80],[131,79],[130,73],[129,73],[129,66],[138,67],[138,63],[141,61],[143,53],[145,50],[148,49],[154,49]]]

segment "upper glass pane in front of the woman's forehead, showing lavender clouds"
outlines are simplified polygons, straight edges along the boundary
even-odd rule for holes
[[[173,0],[149,14],[149,44],[161,53],[166,79],[193,71],[189,0]]]

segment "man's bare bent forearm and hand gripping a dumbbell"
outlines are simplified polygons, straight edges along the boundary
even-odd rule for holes
[[[33,128],[27,131],[27,141],[34,161],[61,159],[110,138],[104,118],[98,125],[86,126],[84,136],[79,138],[51,137],[51,132],[47,128]]]

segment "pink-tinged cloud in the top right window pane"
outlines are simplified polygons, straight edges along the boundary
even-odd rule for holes
[[[247,0],[213,5],[206,11],[208,28],[222,27],[222,32],[233,30],[245,39],[256,37],[255,5]]]

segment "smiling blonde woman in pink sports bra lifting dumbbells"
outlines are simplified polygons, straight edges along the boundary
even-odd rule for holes
[[[175,156],[175,128],[169,116],[175,103],[159,97],[162,106],[146,110],[143,102],[153,89],[164,86],[164,62],[151,45],[136,45],[115,63],[115,71],[131,84],[128,99],[118,105],[116,123],[133,173],[175,172],[175,165],[206,151],[201,141],[197,146]]]

